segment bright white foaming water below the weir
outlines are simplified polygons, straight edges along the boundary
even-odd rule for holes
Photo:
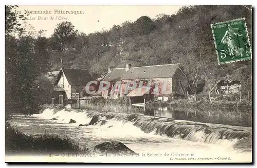
[[[56,131],[60,131],[63,126],[70,132],[67,134],[76,142],[86,141],[87,143],[98,143],[106,141],[120,141],[135,152],[151,153],[151,152],[168,152],[168,153],[195,153],[198,157],[225,157],[231,158],[251,158],[251,153],[237,153],[233,145],[237,141],[218,139],[215,134],[209,136],[209,143],[204,143],[206,134],[203,131],[192,132],[188,135],[188,139],[180,139],[179,136],[169,138],[166,135],[156,135],[156,129],[150,133],[143,132],[139,127],[134,126],[133,122],[122,122],[116,119],[106,120],[105,125],[99,122],[96,125],[81,126],[79,124],[88,124],[91,117],[88,117],[86,111],[67,111],[61,109],[54,113],[53,109],[46,109],[42,114],[33,115],[40,119],[50,120],[52,126],[58,127]],[[77,123],[69,124],[70,119],[76,120]],[[165,122],[165,121],[163,121]],[[59,127],[60,126],[60,127]],[[62,126],[62,127],[61,127]],[[54,129],[53,129],[54,131]],[[189,141],[189,137],[190,140]],[[215,143],[212,143],[212,141]]]

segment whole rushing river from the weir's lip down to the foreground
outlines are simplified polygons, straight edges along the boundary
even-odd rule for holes
[[[106,124],[88,124],[93,117]],[[197,151],[197,156],[223,154],[251,158],[251,152],[235,150],[234,144],[251,137],[250,127],[199,123],[136,114],[110,113],[79,109],[50,109],[31,117],[16,116],[12,124],[26,134],[54,133],[68,136],[81,146],[93,148],[107,141],[119,141],[135,152]],[[57,120],[51,120],[56,118]],[[70,119],[77,121],[69,124]],[[243,142],[242,142],[243,143]]]

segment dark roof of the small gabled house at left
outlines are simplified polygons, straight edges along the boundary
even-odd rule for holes
[[[87,69],[61,68],[55,84],[59,82],[62,72],[70,85],[85,86],[89,81],[92,80],[92,77]]]

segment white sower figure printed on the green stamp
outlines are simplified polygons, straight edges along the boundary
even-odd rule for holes
[[[243,48],[240,48],[236,46],[235,43],[235,38],[237,36],[243,36],[243,34],[238,34],[235,31],[238,30],[238,28],[232,28],[230,24],[228,24],[227,31],[225,32],[223,38],[222,38],[222,43],[227,45],[228,47],[228,53],[230,56],[240,56],[243,57]]]

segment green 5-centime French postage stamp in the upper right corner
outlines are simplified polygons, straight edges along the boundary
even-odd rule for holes
[[[251,46],[245,18],[211,24],[218,64],[250,60]]]

